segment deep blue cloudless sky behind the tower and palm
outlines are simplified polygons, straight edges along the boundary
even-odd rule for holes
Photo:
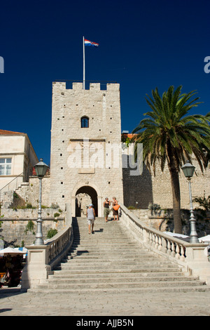
[[[2,4],[2,2],[4,4]],[[52,81],[120,84],[122,131],[148,111],[145,96],[174,85],[197,90],[210,111],[209,1],[7,0],[0,8],[1,129],[27,133],[38,158],[50,163]]]

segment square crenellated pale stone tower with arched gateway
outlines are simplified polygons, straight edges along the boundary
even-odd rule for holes
[[[52,84],[50,202],[83,216],[90,202],[103,216],[105,197],[123,204],[120,86]]]

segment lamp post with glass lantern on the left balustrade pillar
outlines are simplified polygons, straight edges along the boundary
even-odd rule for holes
[[[41,158],[39,163],[34,166],[36,170],[36,175],[39,179],[39,194],[38,194],[38,219],[37,222],[37,232],[36,232],[36,240],[34,245],[43,245],[43,234],[42,234],[42,218],[41,218],[41,180],[45,176],[45,173],[48,169],[48,165],[43,163],[43,159]]]

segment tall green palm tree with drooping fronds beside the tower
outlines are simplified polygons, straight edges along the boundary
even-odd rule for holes
[[[160,163],[162,171],[165,163],[169,168],[172,182],[174,231],[182,232],[181,203],[179,171],[186,160],[191,161],[194,154],[202,171],[207,167],[207,154],[210,150],[209,114],[188,115],[188,112],[197,107],[199,98],[194,98],[195,91],[181,94],[182,86],[174,91],[170,86],[163,93],[162,98],[158,88],[152,91],[153,99],[147,94],[146,102],[151,107],[151,112],[146,112],[147,117],[141,120],[132,133],[137,133],[137,143],[143,143],[143,159],[155,174],[156,161]]]

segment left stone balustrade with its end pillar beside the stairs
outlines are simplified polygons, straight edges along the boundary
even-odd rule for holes
[[[21,289],[36,288],[45,283],[53,268],[66,256],[73,242],[71,207],[66,204],[65,227],[44,245],[29,245],[27,265],[22,270]]]

